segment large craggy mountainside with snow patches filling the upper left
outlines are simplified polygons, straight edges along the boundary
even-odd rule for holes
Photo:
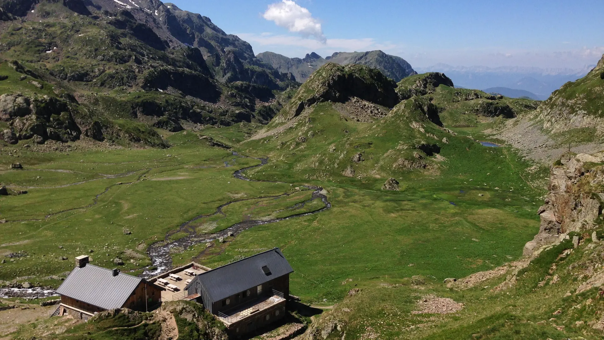
[[[275,90],[297,86],[257,66],[249,44],[209,19],[159,1],[0,7],[7,20],[0,22],[0,130],[7,143],[86,136],[165,147],[153,128],[268,123],[283,97]]]

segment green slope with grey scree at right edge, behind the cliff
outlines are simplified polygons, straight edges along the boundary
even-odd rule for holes
[[[492,132],[528,157],[554,162],[571,148],[598,152],[604,147],[604,57],[585,77],[567,82],[523,115]]]

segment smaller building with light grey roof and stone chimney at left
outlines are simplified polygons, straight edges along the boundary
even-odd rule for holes
[[[88,320],[94,313],[116,308],[146,311],[161,300],[161,288],[143,278],[88,263],[82,255],[57,293],[61,302],[53,315]]]

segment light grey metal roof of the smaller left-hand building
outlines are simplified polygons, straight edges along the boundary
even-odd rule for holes
[[[76,267],[57,289],[60,295],[80,300],[103,309],[115,309],[123,306],[141,278],[118,273],[113,270],[86,264]]]

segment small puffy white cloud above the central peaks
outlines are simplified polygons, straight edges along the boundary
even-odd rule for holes
[[[281,0],[268,5],[263,17],[274,21],[277,26],[287,28],[290,32],[300,33],[304,37],[313,36],[323,44],[327,41],[321,22],[313,18],[309,10],[293,0]]]

